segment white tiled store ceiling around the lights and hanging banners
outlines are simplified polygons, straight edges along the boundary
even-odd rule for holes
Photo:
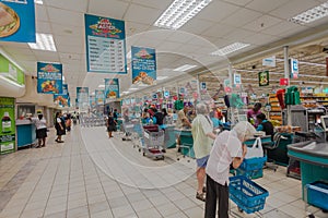
[[[281,48],[277,58],[282,59],[283,45],[292,39],[302,38],[302,33],[324,33],[328,24],[328,17],[306,25],[288,21],[325,0],[212,0],[178,31],[154,27],[154,22],[172,2],[173,0],[44,0],[44,4],[36,4],[36,31],[54,35],[57,52],[32,50],[27,44],[16,43],[1,41],[0,47],[25,69],[28,75],[36,75],[37,61],[61,62],[69,93],[74,98],[77,86],[89,86],[93,92],[103,84],[105,77],[120,77],[120,87],[124,90],[131,86],[130,70],[127,75],[86,72],[84,13],[124,20],[127,53],[131,46],[155,48],[157,75],[168,76],[167,81],[171,82],[174,81],[174,76],[180,75],[179,72],[173,71],[180,65],[196,64],[214,71],[220,61],[229,63],[236,60],[236,57],[245,58],[273,46]],[[210,55],[218,48],[236,41],[250,46],[229,57]],[[315,45],[320,47],[317,53],[314,51],[309,55],[311,58],[302,53],[301,48],[293,50],[292,56],[307,62],[326,63],[326,53],[319,48],[327,43],[316,41]],[[270,71],[283,72],[282,66],[283,63],[278,62],[277,68]],[[259,59],[235,64],[234,68],[263,70]],[[301,65],[301,74],[309,73],[313,69]],[[325,75],[326,70],[320,66],[315,72]],[[257,73],[241,73],[244,78],[257,78]]]

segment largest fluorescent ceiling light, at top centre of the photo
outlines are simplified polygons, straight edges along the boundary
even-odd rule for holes
[[[175,0],[154,23],[154,26],[178,29],[212,0]]]

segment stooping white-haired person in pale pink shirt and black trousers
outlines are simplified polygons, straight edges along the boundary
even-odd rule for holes
[[[207,172],[207,197],[206,218],[215,217],[219,201],[219,217],[229,218],[229,172],[238,168],[247,153],[247,138],[256,133],[255,128],[247,121],[238,122],[232,131],[223,131],[214,141],[210,158],[206,168]]]

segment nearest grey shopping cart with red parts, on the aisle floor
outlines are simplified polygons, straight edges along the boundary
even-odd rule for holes
[[[142,155],[154,159],[164,159],[162,148],[164,146],[164,131],[159,125],[143,126]]]

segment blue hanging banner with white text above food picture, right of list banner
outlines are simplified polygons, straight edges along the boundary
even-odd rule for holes
[[[131,47],[132,84],[154,85],[156,80],[155,49]]]

